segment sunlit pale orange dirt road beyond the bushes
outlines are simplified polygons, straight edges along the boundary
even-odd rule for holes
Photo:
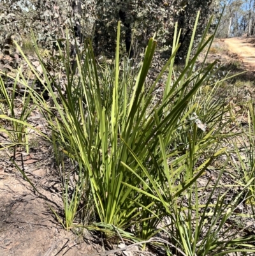
[[[247,70],[255,71],[255,46],[248,42],[248,38],[226,38],[224,43],[231,52],[238,55]]]

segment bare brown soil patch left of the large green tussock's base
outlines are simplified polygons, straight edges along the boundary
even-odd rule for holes
[[[25,173],[47,200],[34,193],[8,160],[6,152],[0,151],[0,255],[74,256],[100,252],[101,246],[90,243],[89,234],[79,236],[68,232],[55,220],[47,204],[60,213],[59,182],[43,154],[38,147],[36,153],[26,155],[21,152],[16,157],[21,163],[19,160],[23,155]],[[86,243],[84,237],[87,237]]]

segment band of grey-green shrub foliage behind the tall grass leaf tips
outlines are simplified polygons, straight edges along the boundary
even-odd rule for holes
[[[96,52],[110,52],[115,49],[115,27],[120,20],[119,10],[126,13],[126,24],[133,29],[133,43],[136,53],[140,53],[146,47],[150,37],[156,33],[156,40],[162,51],[170,50],[175,22],[182,29],[180,34],[179,56],[187,54],[189,41],[193,31],[196,13],[201,10],[201,19],[198,22],[194,47],[200,41],[201,34],[212,13],[217,13],[218,0],[208,1],[171,1],[171,0],[147,0],[147,1],[78,1],[81,10],[74,11],[73,1],[31,1],[18,5],[16,1],[3,3],[3,15],[0,15],[0,42],[10,36],[22,41],[29,35],[32,28],[36,34],[37,43],[42,47],[52,49],[53,43],[59,38],[65,38],[64,29],[68,28],[68,38],[71,45],[75,45],[73,38],[73,26],[77,22],[81,26],[84,38],[94,36]],[[23,6],[23,7],[22,7]],[[212,24],[212,28],[215,24]],[[122,26],[121,35],[127,28]],[[170,56],[170,54],[168,54]]]

